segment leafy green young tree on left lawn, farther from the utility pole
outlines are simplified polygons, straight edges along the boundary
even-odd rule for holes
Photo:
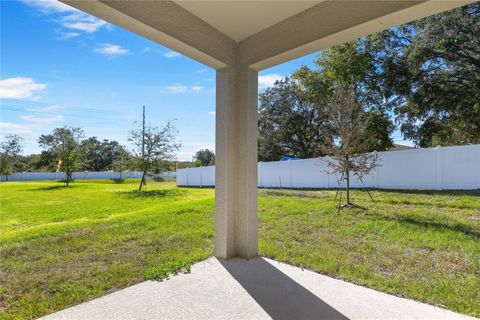
[[[51,152],[60,164],[60,170],[65,172],[65,186],[73,181],[72,173],[79,167],[81,158],[80,141],[83,130],[80,128],[56,128],[51,134],[41,135],[39,145]]]

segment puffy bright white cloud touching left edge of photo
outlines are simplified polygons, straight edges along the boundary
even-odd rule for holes
[[[28,99],[35,98],[36,91],[43,91],[47,87],[44,83],[37,83],[31,78],[14,77],[0,80],[0,98]]]

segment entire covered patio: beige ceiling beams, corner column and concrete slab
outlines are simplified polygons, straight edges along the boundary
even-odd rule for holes
[[[63,2],[216,70],[216,258],[51,318],[462,317],[254,258],[257,95],[261,70],[472,1]]]

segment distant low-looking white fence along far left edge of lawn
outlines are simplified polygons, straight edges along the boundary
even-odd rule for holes
[[[122,178],[141,178],[142,173],[138,171],[124,172]],[[175,178],[175,172],[164,172],[158,175],[161,178]],[[83,179],[118,179],[120,174],[113,171],[99,172],[74,172],[73,180]],[[8,181],[28,181],[28,180],[64,180],[64,172],[17,172],[8,176]],[[0,181],[4,181],[5,177],[0,177]]]

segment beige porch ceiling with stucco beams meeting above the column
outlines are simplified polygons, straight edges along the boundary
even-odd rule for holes
[[[215,69],[259,71],[472,0],[61,0]]]

